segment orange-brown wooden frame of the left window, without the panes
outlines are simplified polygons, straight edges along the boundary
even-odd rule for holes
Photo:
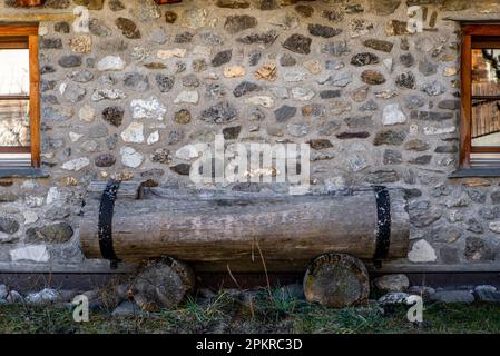
[[[9,96],[10,99],[29,99],[30,111],[30,147],[0,147],[0,152],[31,154],[31,167],[40,167],[40,70],[38,61],[38,23],[2,24],[0,37],[28,38],[29,51],[29,96]],[[13,40],[9,48],[19,48],[20,43]],[[0,167],[1,169],[1,167]]]

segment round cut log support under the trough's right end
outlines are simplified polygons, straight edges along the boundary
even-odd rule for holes
[[[310,303],[344,308],[366,304],[369,294],[366,267],[350,255],[321,255],[305,273],[304,295]]]

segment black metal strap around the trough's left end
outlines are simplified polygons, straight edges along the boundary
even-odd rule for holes
[[[112,248],[112,214],[119,188],[119,181],[109,181],[102,192],[99,206],[98,236],[100,254],[104,258],[109,259],[112,269],[117,268],[120,261]]]

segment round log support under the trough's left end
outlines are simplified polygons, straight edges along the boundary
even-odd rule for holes
[[[135,301],[144,310],[171,308],[184,300],[195,287],[195,274],[185,263],[165,257],[149,263],[133,285]]]

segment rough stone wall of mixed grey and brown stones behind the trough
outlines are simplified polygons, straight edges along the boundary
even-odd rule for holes
[[[189,187],[192,158],[178,149],[216,134],[310,142],[314,189],[406,188],[404,263],[499,265],[499,180],[447,178],[458,161],[459,37],[444,20],[498,13],[497,1],[12,2],[0,6],[2,20],[43,20],[50,177],[1,179],[2,268],[81,264],[78,212],[90,180]],[[76,4],[90,9],[89,34],[58,20]],[[402,22],[413,4],[423,6],[422,33]]]

